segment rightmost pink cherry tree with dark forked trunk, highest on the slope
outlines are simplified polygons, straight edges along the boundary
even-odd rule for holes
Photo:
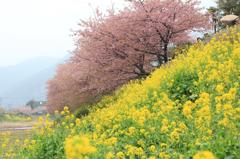
[[[164,62],[168,61],[168,45],[189,40],[190,31],[210,27],[209,16],[201,12],[197,0],[132,0],[135,18],[153,31],[161,41]]]

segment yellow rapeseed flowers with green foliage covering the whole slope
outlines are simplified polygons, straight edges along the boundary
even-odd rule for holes
[[[40,119],[33,141],[6,158],[240,158],[239,86],[235,27],[123,86],[85,117],[65,107],[53,122]]]

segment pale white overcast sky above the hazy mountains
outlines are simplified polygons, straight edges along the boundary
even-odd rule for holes
[[[74,48],[71,29],[92,13],[123,0],[0,0],[0,67],[39,56],[62,58]],[[214,0],[202,0],[203,7]]]

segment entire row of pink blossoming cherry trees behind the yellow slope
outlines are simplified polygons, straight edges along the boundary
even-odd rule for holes
[[[190,31],[209,26],[195,0],[132,0],[123,10],[82,20],[76,49],[48,85],[50,106],[77,107],[96,101],[132,79],[144,78],[168,62],[169,44],[191,40]]]

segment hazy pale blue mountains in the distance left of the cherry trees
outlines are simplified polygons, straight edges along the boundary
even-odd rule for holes
[[[0,67],[0,105],[25,105],[29,100],[46,100],[46,82],[63,59],[38,57],[15,66]]]

